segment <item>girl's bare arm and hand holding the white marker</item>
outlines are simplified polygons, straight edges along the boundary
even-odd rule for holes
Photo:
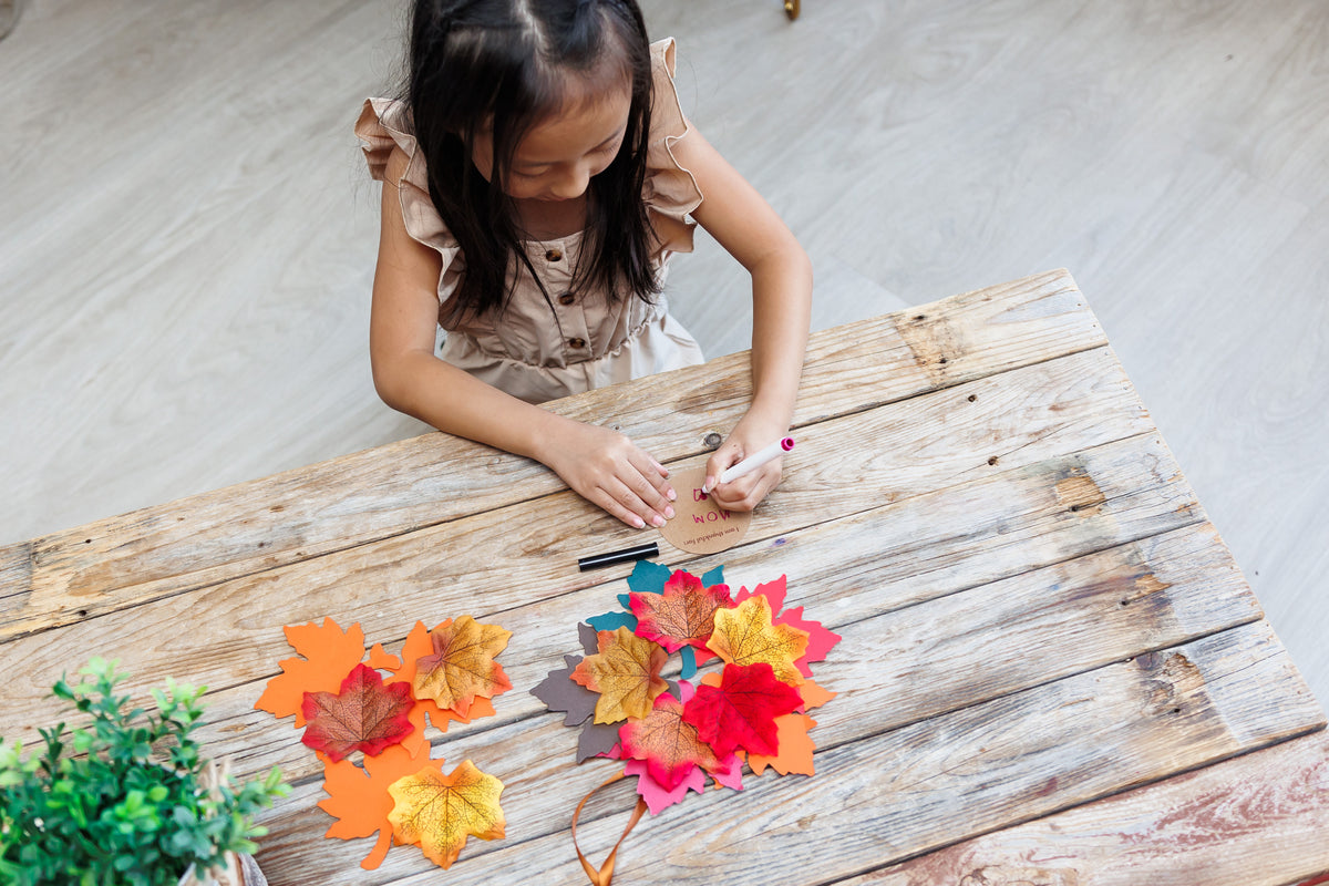
[[[762,195],[696,129],[672,146],[704,199],[692,218],[752,275],[752,404],[706,462],[707,484],[783,437],[793,421],[812,323],[812,263]],[[783,460],[715,489],[730,510],[752,510],[780,482]]]

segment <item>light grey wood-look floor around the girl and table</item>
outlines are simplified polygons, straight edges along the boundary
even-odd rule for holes
[[[1053,267],[1329,703],[1329,4],[647,0],[819,328]],[[399,0],[27,0],[0,41],[0,543],[421,433],[351,134]],[[743,274],[675,312],[746,347]]]

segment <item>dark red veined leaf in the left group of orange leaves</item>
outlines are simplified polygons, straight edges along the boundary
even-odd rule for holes
[[[356,664],[338,692],[304,693],[300,713],[308,725],[300,741],[334,762],[352,751],[375,754],[415,729],[408,719],[412,707],[411,687],[385,687],[377,671]]]

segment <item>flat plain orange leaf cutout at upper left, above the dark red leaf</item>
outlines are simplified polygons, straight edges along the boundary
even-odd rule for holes
[[[364,658],[364,631],[352,624],[343,631],[331,618],[323,624],[291,624],[282,631],[291,647],[304,658],[284,659],[282,673],[267,681],[254,703],[258,711],[278,717],[295,715],[296,728],[304,725],[300,705],[306,692],[336,692],[342,680]]]

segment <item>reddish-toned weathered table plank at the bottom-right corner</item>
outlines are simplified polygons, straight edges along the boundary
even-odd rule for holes
[[[844,886],[1284,886],[1329,870],[1329,735],[949,846]]]

